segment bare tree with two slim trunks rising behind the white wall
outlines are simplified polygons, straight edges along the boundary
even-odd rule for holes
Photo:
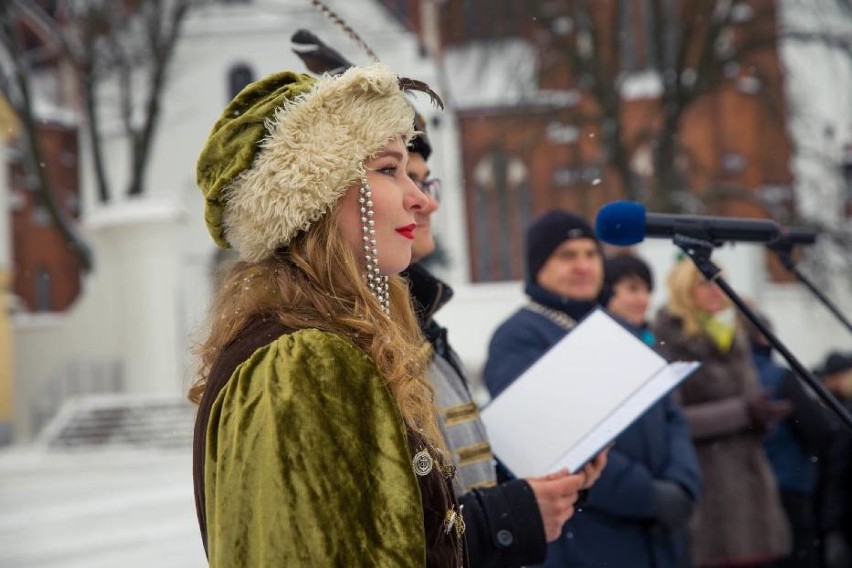
[[[115,110],[130,146],[125,192],[131,196],[143,194],[168,67],[187,14],[205,0],[66,1],[59,6],[61,22],[33,0],[12,1],[26,7],[74,66],[98,199],[106,203],[115,195],[107,179],[101,135],[101,116],[107,109],[103,108],[99,91],[108,84],[114,85],[118,93]],[[144,80],[137,83],[139,73]],[[141,100],[140,90],[144,93]]]

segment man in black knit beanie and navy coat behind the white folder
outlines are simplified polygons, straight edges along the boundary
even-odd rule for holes
[[[553,210],[527,231],[529,303],[494,333],[485,382],[497,396],[598,306],[604,261],[582,218]],[[620,279],[638,277],[624,272]],[[640,279],[641,280],[641,279]],[[615,284],[615,282],[613,282]],[[646,286],[650,290],[650,279]],[[638,333],[638,332],[637,332]],[[581,380],[566,373],[566,380]],[[666,398],[616,439],[609,463],[577,515],[550,545],[546,566],[676,567],[678,533],[699,491],[699,466],[677,405]]]

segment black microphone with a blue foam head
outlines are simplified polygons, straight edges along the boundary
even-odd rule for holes
[[[619,246],[635,245],[646,237],[670,238],[676,234],[714,244],[769,243],[782,234],[781,227],[770,219],[648,213],[644,205],[634,201],[614,201],[601,207],[595,232],[603,242]]]

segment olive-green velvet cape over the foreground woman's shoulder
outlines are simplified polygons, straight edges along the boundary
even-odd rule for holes
[[[210,407],[210,566],[427,565],[408,436],[348,339],[305,329],[255,350]]]

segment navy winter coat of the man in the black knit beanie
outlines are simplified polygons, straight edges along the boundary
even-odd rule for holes
[[[527,285],[533,300],[503,323],[491,340],[485,381],[502,392],[594,308]],[[547,566],[674,567],[683,552],[677,535],[655,530],[654,480],[669,480],[691,499],[699,470],[689,432],[670,397],[654,405],[616,439],[600,479],[562,537],[548,550]]]

